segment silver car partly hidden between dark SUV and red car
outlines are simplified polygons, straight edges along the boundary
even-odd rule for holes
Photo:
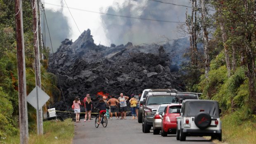
[[[162,123],[162,115],[164,114],[164,111],[166,109],[166,107],[169,104],[161,104],[158,106],[156,113],[154,115],[154,119],[153,119],[153,134],[154,135],[158,135],[160,130],[161,130],[161,123]],[[162,115],[159,115],[159,113],[162,112]]]

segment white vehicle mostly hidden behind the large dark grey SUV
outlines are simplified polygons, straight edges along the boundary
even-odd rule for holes
[[[153,93],[167,93],[167,92],[178,92],[175,89],[146,89],[143,90],[142,95],[140,97],[140,102],[144,101],[147,97],[148,94],[153,94]],[[138,111],[138,123],[142,123],[142,104],[140,104],[140,109]]]

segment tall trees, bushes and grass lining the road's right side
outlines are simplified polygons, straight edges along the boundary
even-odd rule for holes
[[[204,15],[206,21],[201,10],[197,17],[193,15],[195,8],[192,14],[187,14],[187,24],[180,25],[191,38],[190,52],[185,54],[190,61],[184,62],[180,70],[186,89],[202,92],[201,99],[219,102],[223,122],[223,142],[220,143],[255,144],[256,3],[254,0],[191,1],[198,2],[199,8],[204,1],[208,9]],[[212,7],[216,12],[209,14]],[[203,39],[208,35],[211,39],[206,42]],[[204,49],[197,47],[199,42],[203,42]]]

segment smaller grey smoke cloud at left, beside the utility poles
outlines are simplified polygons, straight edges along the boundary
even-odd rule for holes
[[[71,29],[68,23],[67,18],[62,14],[62,9],[58,11],[53,11],[51,9],[45,9],[45,15],[50,31],[50,36],[52,40],[52,49],[53,52],[56,52],[57,48],[59,48],[59,45],[63,40],[66,38],[70,38],[71,36]],[[50,43],[50,36],[47,30],[46,21],[43,19],[43,14],[41,16],[41,25],[42,25],[42,34],[45,42],[45,46],[51,48]]]

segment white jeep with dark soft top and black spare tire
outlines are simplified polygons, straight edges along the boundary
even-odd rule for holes
[[[177,117],[176,139],[185,141],[189,136],[211,136],[222,140],[219,104],[212,100],[186,99]]]

